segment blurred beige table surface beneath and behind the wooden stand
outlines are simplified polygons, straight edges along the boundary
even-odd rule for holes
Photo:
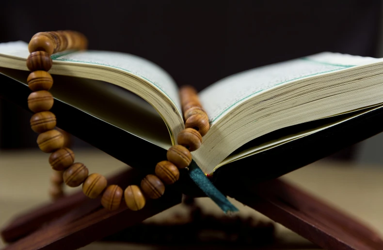
[[[76,161],[84,162],[90,173],[110,175],[124,168],[124,163],[99,151],[76,152]],[[49,201],[48,186],[52,170],[48,165],[48,154],[38,150],[0,151],[0,227],[20,212]],[[383,235],[383,166],[362,166],[319,161],[294,171],[286,176],[306,191],[319,196],[324,201],[341,208],[361,221],[365,221]],[[66,189],[67,192],[76,189]],[[207,213],[222,213],[207,198],[197,199]],[[254,216],[267,220],[253,209],[231,199],[239,208],[240,215]],[[150,218],[161,220],[174,211],[182,211],[181,206]],[[281,225],[277,225],[277,237],[288,243],[306,241]],[[0,241],[0,247],[4,244]],[[153,246],[121,243],[95,242],[83,250],[125,250],[156,249]]]

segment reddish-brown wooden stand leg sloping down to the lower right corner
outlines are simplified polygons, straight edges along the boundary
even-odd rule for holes
[[[284,181],[275,179],[230,196],[324,249],[383,249],[371,229]]]

